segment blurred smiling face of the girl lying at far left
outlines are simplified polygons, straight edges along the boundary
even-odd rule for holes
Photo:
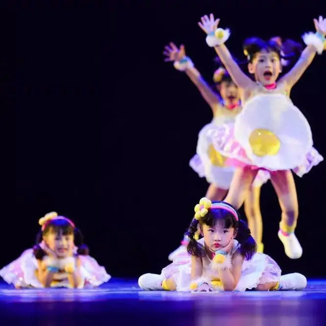
[[[63,235],[62,231],[58,233],[50,231],[44,236],[43,240],[58,257],[66,258],[73,255],[75,248],[74,234]]]

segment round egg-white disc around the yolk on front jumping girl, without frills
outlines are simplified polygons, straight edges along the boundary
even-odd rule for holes
[[[257,129],[268,130],[278,138],[277,153],[262,156],[254,153],[250,138]],[[296,168],[313,144],[310,125],[283,94],[262,94],[248,100],[236,118],[234,137],[253,165],[271,171]]]

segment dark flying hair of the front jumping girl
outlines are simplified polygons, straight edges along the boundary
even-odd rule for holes
[[[243,51],[248,62],[252,62],[255,55],[263,50],[276,52],[280,59],[293,62],[301,55],[303,47],[301,44],[289,39],[282,42],[282,39],[278,36],[267,41],[258,37],[251,37],[244,42]]]

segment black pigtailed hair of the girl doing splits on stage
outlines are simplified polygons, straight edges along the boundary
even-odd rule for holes
[[[215,201],[221,202],[221,201]],[[203,225],[214,226],[217,221],[223,221],[226,228],[234,227],[237,231],[235,239],[238,240],[240,246],[240,254],[247,260],[250,260],[257,251],[257,245],[251,236],[250,229],[247,223],[240,219],[238,211],[230,204],[223,202],[224,204],[232,207],[237,212],[237,218],[230,213],[228,210],[223,208],[208,209],[208,213],[203,216],[200,221],[193,219],[191,222],[186,235],[189,237],[189,243],[187,251],[192,256],[204,257],[207,255],[207,251],[198,241],[195,240],[194,236],[197,232],[198,225],[202,228]]]

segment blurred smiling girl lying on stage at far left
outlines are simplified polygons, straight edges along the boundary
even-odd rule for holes
[[[88,255],[83,236],[75,224],[52,212],[39,220],[37,245],[0,270],[0,276],[16,288],[99,286],[109,276]]]

